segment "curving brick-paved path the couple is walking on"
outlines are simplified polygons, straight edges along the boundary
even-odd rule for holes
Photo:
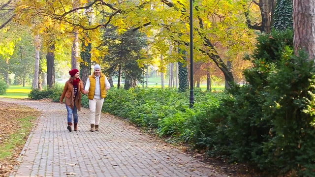
[[[188,154],[142,133],[125,120],[101,115],[100,132],[89,132],[88,109],[79,130],[66,129],[65,105],[11,101],[43,114],[32,129],[11,176],[43,177],[227,177]]]

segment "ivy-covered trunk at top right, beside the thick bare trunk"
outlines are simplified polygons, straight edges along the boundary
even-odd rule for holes
[[[278,0],[274,16],[275,29],[293,29],[293,0]]]

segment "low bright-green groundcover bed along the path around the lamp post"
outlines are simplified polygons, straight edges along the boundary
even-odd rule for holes
[[[177,89],[111,89],[104,101],[103,111],[128,120],[160,136],[171,136],[188,142],[192,135],[190,120],[218,102],[225,93],[195,90],[196,104],[189,109],[189,92]],[[87,98],[84,98],[87,99]],[[83,100],[82,103],[88,103]]]

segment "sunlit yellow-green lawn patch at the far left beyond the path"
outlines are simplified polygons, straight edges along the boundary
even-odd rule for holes
[[[29,97],[29,93],[32,90],[32,86],[9,86],[6,90],[6,93],[0,95],[0,98],[16,98],[24,99]]]

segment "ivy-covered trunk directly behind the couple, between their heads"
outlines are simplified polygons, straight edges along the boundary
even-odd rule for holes
[[[85,85],[89,75],[91,74],[91,43],[88,43],[88,46],[82,42],[82,50],[80,52],[81,59],[83,60],[80,62],[80,78]]]

